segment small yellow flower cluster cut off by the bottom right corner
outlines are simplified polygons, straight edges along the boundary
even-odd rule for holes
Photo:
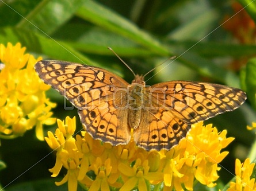
[[[244,163],[239,159],[235,161],[235,182],[230,182],[230,188],[227,191],[251,191],[256,190],[255,178],[250,178],[253,173],[255,163],[250,164],[250,159],[247,158]]]

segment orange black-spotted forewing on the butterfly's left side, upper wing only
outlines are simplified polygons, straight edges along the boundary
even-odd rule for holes
[[[112,99],[117,88],[128,83],[121,77],[97,67],[55,60],[41,60],[35,65],[36,72],[46,84],[58,90],[78,109],[88,109],[105,104]]]

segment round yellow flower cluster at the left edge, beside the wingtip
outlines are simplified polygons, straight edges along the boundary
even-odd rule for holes
[[[44,139],[42,124],[53,124],[54,103],[45,97],[50,87],[37,76],[36,61],[24,54],[21,44],[0,44],[0,137],[15,138],[36,126],[36,135]]]

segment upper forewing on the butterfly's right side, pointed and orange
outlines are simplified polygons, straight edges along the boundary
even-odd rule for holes
[[[246,93],[238,88],[197,81],[167,81],[152,89],[163,89],[158,94],[153,91],[152,97],[188,124],[235,110],[246,100]]]

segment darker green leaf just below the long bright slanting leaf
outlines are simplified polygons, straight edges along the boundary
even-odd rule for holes
[[[121,57],[149,57],[156,55],[142,46],[137,46],[135,42],[119,34],[114,34],[109,32],[109,30],[95,26],[67,24],[58,29],[52,38],[66,41],[66,44],[85,53],[114,56],[107,49],[110,46]]]

